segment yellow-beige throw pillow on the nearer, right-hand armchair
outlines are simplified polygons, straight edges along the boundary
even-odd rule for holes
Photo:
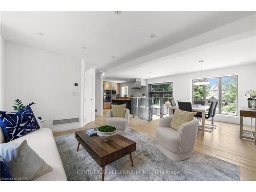
[[[176,109],[172,121],[170,122],[170,128],[178,131],[183,123],[191,121],[197,112],[181,111]]]

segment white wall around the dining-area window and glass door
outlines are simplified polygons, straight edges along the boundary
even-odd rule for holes
[[[226,75],[238,75],[238,108],[247,106],[248,96],[244,96],[246,90],[256,90],[256,63],[240,65],[236,67],[222,68],[204,71],[204,77],[219,77]],[[175,100],[191,101],[191,80],[202,78],[200,73],[187,73],[147,79],[148,83],[173,82],[173,97]],[[239,117],[216,115],[215,120],[230,123],[239,123]],[[249,123],[246,118],[245,124]]]

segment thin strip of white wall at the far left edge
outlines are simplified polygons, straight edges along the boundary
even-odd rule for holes
[[[4,39],[0,35],[0,110],[4,110]]]

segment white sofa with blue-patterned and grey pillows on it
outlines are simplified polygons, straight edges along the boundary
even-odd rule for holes
[[[67,181],[52,131],[49,128],[40,128],[39,130],[33,131],[10,142],[20,143],[25,139],[29,146],[52,167],[51,172],[42,175],[33,181]],[[4,134],[1,127],[0,142],[4,142]]]

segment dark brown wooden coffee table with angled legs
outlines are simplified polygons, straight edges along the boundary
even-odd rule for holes
[[[133,166],[132,152],[136,151],[136,142],[116,134],[110,141],[103,141],[98,135],[90,137],[86,131],[76,132],[77,151],[81,144],[90,156],[102,167],[101,181],[104,181],[105,165],[130,155]]]

